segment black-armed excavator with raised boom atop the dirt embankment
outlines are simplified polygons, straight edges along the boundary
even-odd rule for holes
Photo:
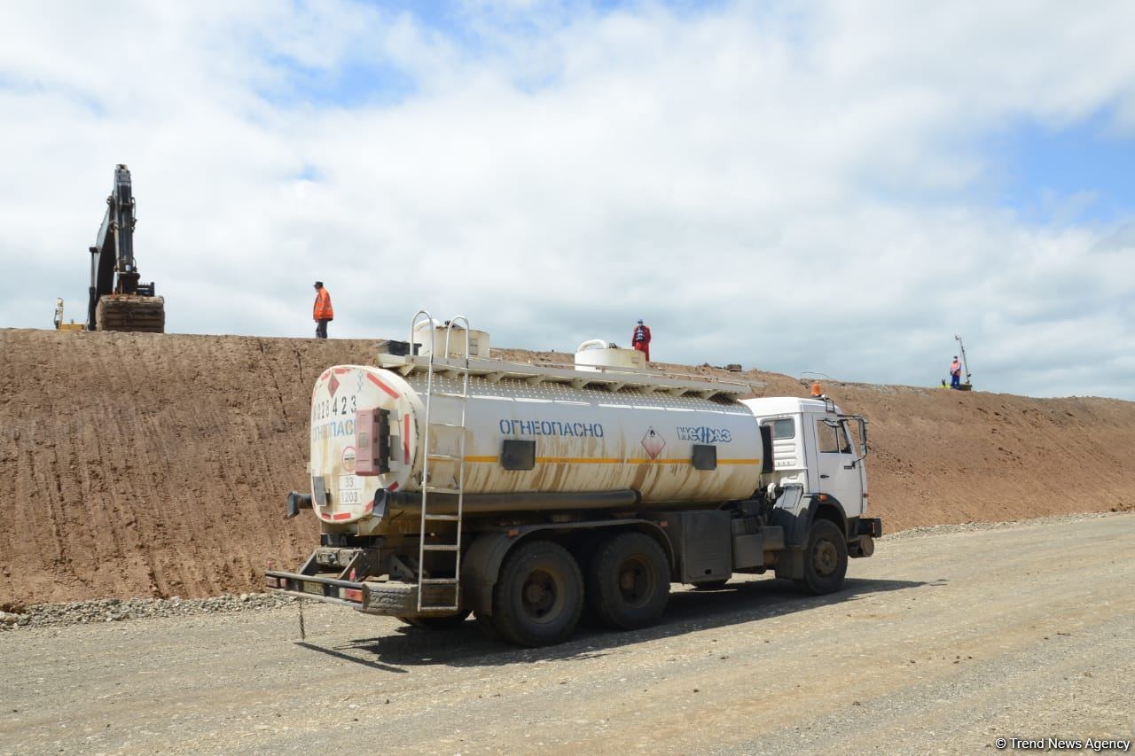
[[[99,236],[90,247],[87,330],[166,331],[166,300],[154,293],[153,282],[138,282],[134,260],[134,225],[137,221],[134,213],[131,171],[119,163],[115,168],[115,186],[107,198]]]

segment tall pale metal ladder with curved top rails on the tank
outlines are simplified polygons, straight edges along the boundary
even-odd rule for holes
[[[424,316],[424,319],[419,320],[420,316]],[[461,373],[460,393],[434,390],[434,373],[437,372],[437,326],[435,325],[432,316],[430,316],[430,313],[426,310],[419,310],[410,321],[411,352],[413,351],[414,329],[418,327],[419,322],[427,322],[429,325],[430,351],[429,362],[427,363],[426,370],[426,419],[423,422],[424,430],[422,438],[421,535],[418,540],[418,611],[456,612],[461,608],[461,518],[465,503],[465,412],[469,406],[469,319],[464,316],[457,316],[448,321],[445,329],[445,351],[442,353],[442,359],[445,363],[444,370]],[[452,364],[453,361],[449,359],[449,337],[453,335],[454,326],[457,326],[459,324],[463,326],[465,344],[464,350],[462,351],[463,356],[459,358],[460,361],[463,361],[463,364],[454,367]],[[432,402],[435,396],[443,396],[459,402],[461,415],[457,422],[434,421]],[[457,453],[455,455],[442,454],[434,448],[436,442],[436,436],[431,432],[431,429],[434,428],[444,428],[449,431],[456,431],[460,435],[457,440]],[[430,478],[431,462],[456,464],[456,487],[434,485]],[[455,495],[457,497],[457,511],[455,513],[445,514],[430,511],[430,494]],[[455,532],[453,541],[446,544],[426,543],[426,539],[429,538],[430,527],[439,522],[453,523]],[[426,554],[428,553],[452,554],[453,577],[427,577]],[[428,586],[449,586],[453,595],[452,603],[427,600],[426,591]],[[448,593],[445,595],[448,595]]]

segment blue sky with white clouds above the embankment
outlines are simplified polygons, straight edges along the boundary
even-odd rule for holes
[[[6,3],[0,327],[114,168],[167,330],[1135,400],[1135,3]]]

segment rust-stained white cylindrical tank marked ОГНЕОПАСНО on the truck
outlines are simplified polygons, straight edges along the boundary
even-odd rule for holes
[[[638,506],[649,509],[671,502],[716,505],[746,498],[758,486],[756,419],[728,396],[470,376],[468,398],[461,400],[453,396],[462,393],[460,371],[435,372],[432,380],[431,486],[455,487],[461,465],[452,457],[462,454],[462,436],[466,495],[632,489]],[[319,377],[312,394],[311,474],[325,522],[363,526],[358,521],[370,519],[377,489],[421,489],[426,383],[424,371],[403,376],[363,366],[330,368]],[[462,405],[464,430],[452,427],[461,425]],[[356,432],[364,429],[355,428],[355,413],[370,409],[386,411],[389,471],[359,476]],[[695,465],[695,446],[714,447],[712,467],[705,448]],[[321,498],[321,488],[329,496]]]

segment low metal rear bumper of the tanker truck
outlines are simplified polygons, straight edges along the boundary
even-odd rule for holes
[[[327,604],[338,604],[363,612],[387,616],[432,616],[452,614],[452,611],[418,611],[418,586],[406,582],[373,582],[340,580],[322,576],[300,574],[269,570],[264,573],[267,588],[274,594],[310,598]],[[430,595],[434,591],[437,595]],[[452,600],[452,591],[447,594]],[[427,586],[426,604],[445,599],[445,588]]]

